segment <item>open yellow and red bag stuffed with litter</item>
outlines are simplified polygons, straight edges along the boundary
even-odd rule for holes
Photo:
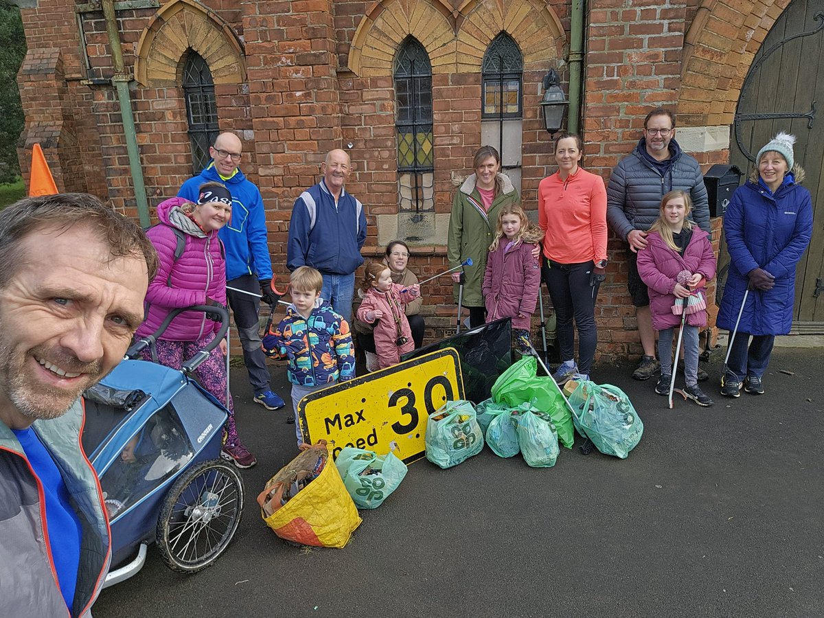
[[[266,525],[301,545],[344,547],[362,521],[325,440],[283,466],[257,500]]]

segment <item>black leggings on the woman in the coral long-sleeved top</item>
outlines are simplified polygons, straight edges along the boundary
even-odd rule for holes
[[[595,300],[599,286],[593,288],[589,285],[593,266],[592,260],[580,264],[558,264],[547,260],[544,267],[546,288],[555,307],[561,361],[575,358],[574,318],[578,327],[578,372],[586,374],[592,367],[598,342]]]

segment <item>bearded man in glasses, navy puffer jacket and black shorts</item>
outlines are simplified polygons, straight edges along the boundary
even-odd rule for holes
[[[653,377],[660,365],[655,358],[647,286],[639,277],[635,260],[638,251],[647,246],[647,230],[658,218],[662,197],[676,189],[690,193],[691,218],[709,232],[709,205],[701,168],[675,141],[675,115],[657,107],[644,119],[644,137],[629,157],[620,160],[606,187],[606,220],[627,241],[627,287],[644,347],[644,358],[632,374],[636,380]],[[706,379],[706,373],[699,371],[699,379]]]

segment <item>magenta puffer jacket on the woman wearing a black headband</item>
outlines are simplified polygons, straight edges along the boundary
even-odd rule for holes
[[[180,210],[187,202],[171,198],[159,204],[160,223],[146,232],[157,250],[158,268],[146,292],[146,319],[135,333],[138,339],[157,330],[171,309],[203,305],[207,297],[226,304],[226,269],[218,232],[207,234],[188,218]],[[172,227],[183,232],[185,238],[183,254],[177,260],[177,236]],[[209,320],[204,313],[185,311],[171,321],[161,339],[197,341],[218,330],[220,323]]]

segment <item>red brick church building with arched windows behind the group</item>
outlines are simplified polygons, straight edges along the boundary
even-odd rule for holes
[[[60,190],[88,191],[135,218],[143,208],[145,217],[208,163],[218,130],[231,130],[244,143],[241,169],[265,199],[279,274],[293,201],[316,183],[333,147],[352,157],[347,188],[368,214],[364,255],[405,239],[422,278],[444,268],[452,194],[480,145],[499,147],[535,211],[538,182],[555,171],[541,114],[550,69],[567,96],[581,93],[564,126],[583,134],[582,165],[605,180],[641,137],[648,110],[666,105],[677,113],[678,142],[705,170],[735,162],[746,174],[752,153],[788,128],[812,173],[808,188],[822,182],[824,146],[810,139],[814,104],[808,112],[824,83],[815,0],[16,4],[29,48],[18,75],[24,169],[40,143]],[[138,152],[132,161],[129,138]],[[719,236],[715,219],[715,242]],[[598,349],[637,354],[623,244],[611,237],[610,249]],[[822,253],[817,232],[799,270],[801,326],[824,324],[824,302],[812,297]],[[429,335],[455,323],[447,279],[424,291]]]

